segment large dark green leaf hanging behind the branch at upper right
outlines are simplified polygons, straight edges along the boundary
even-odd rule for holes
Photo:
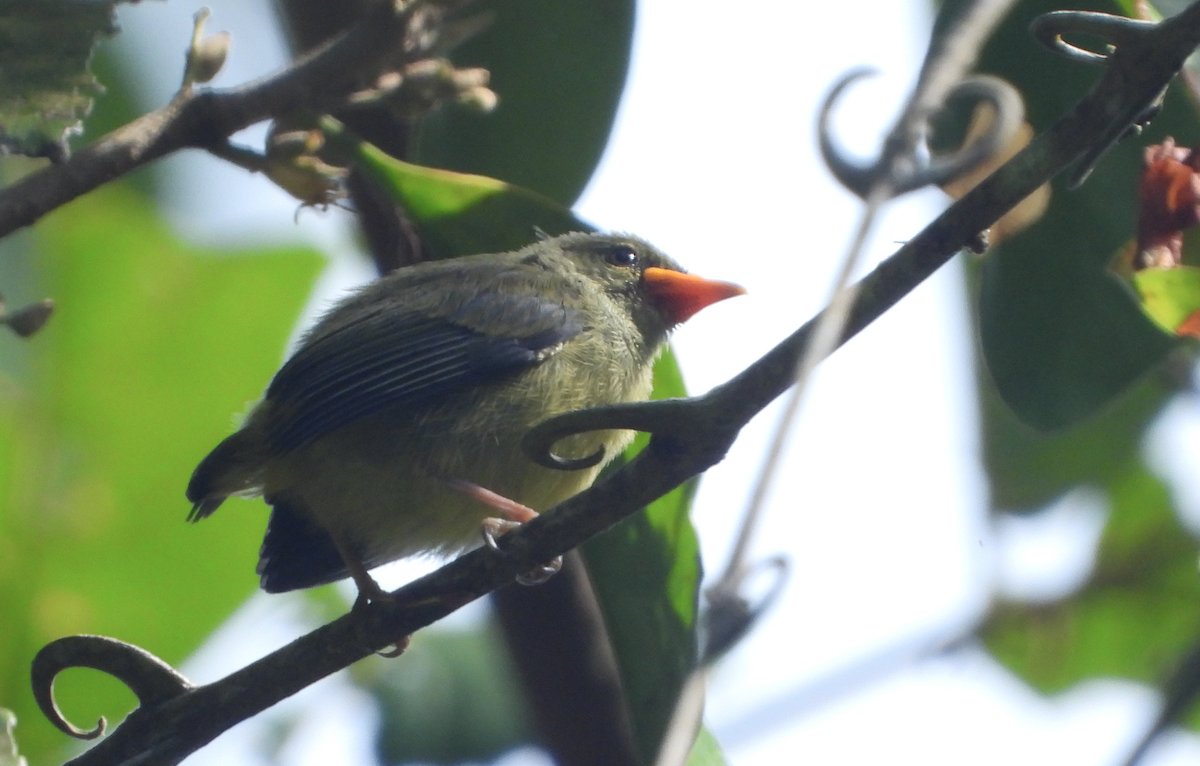
[[[1084,6],[1118,11],[1110,2]],[[1022,91],[1027,119],[1039,131],[1098,76],[1098,68],[1057,56],[1028,34],[1036,16],[1058,7],[1052,0],[1018,5],[979,67]],[[1068,191],[1057,180],[1046,214],[984,262],[979,324],[988,369],[1001,396],[1030,425],[1061,429],[1094,414],[1172,347],[1106,264],[1134,235],[1142,146],[1168,133],[1195,132],[1195,112],[1178,96],[1169,95],[1144,138],[1105,155],[1081,188]]]

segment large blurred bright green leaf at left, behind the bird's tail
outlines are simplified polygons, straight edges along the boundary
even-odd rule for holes
[[[256,588],[264,509],[187,525],[184,489],[270,381],[323,259],[198,252],[121,187],[46,217],[32,244],[58,311],[26,369],[0,373],[0,700],[49,761],[66,737],[29,692],[43,644],[101,633],[176,663]],[[133,705],[95,671],[55,692],[86,725]]]

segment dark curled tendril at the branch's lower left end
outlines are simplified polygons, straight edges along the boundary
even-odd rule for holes
[[[67,668],[91,668],[106,672],[133,692],[140,706],[157,705],[192,688],[174,668],[150,652],[101,635],[71,635],[50,641],[34,658],[34,699],[42,713],[65,734],[77,740],[95,740],[104,734],[103,717],[96,728],[84,730],[62,717],[54,701],[54,678]]]

